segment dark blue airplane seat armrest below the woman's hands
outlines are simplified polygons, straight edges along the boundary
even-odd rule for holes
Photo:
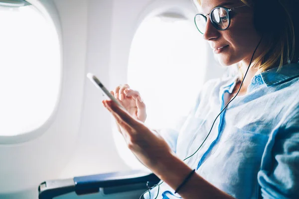
[[[139,199],[158,182],[157,176],[140,170],[49,180],[38,186],[38,199],[73,199],[79,196],[88,199]],[[124,194],[126,192],[131,194]],[[99,194],[91,196],[95,193]]]

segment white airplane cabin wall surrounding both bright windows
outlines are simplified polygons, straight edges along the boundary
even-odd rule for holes
[[[46,180],[130,170],[114,142],[114,121],[102,106],[104,98],[86,73],[96,74],[109,89],[125,84],[131,42],[142,20],[167,9],[187,15],[194,10],[192,0],[31,1],[41,3],[57,27],[61,91],[52,116],[34,138],[0,144],[0,199],[37,198],[37,187]],[[207,79],[221,76],[223,69],[212,52],[208,55]]]

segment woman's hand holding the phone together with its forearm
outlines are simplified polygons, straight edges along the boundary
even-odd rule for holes
[[[172,152],[160,135],[133,118],[127,110],[112,100],[103,100],[103,104],[113,114],[129,149],[139,161],[176,190],[192,169]],[[179,195],[184,199],[233,199],[196,173],[180,189]]]

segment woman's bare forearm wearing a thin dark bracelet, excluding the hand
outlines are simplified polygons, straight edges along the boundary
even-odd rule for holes
[[[174,190],[192,171],[175,154],[165,157],[151,170]],[[233,197],[217,189],[196,173],[184,184],[178,194],[183,199],[233,199]]]

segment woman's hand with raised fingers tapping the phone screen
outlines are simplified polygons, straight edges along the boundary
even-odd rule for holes
[[[130,86],[120,85],[110,92],[132,115],[133,118],[145,122],[147,119],[146,104],[138,91],[130,89]],[[120,131],[120,128],[118,126]]]

